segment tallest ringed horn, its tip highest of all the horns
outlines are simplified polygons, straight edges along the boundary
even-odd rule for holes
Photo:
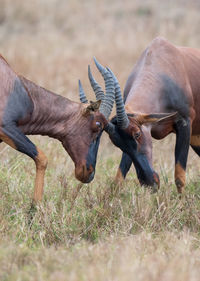
[[[114,87],[114,80],[112,77],[112,74],[104,68],[98,61],[94,58],[94,62],[96,64],[96,67],[98,68],[99,72],[102,74],[104,81],[105,81],[105,89],[106,89],[106,95],[104,100],[102,101],[99,111],[105,116],[105,118],[108,120],[114,100],[115,100],[115,87]]]

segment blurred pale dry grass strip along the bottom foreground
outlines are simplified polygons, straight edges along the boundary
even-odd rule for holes
[[[187,232],[159,236],[142,232],[108,237],[95,245],[82,241],[73,250],[66,246],[32,252],[24,245],[10,244],[0,247],[0,267],[5,272],[3,280],[197,281],[199,243]],[[5,262],[5,256],[12,264]]]

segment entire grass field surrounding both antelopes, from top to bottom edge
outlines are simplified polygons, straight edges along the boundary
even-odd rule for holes
[[[80,78],[93,94],[92,57],[112,68],[122,88],[156,36],[200,46],[200,2],[0,0],[0,52],[18,73],[78,101]],[[114,111],[113,111],[114,114]],[[199,158],[192,151],[185,195],[174,184],[174,136],[154,141],[157,194],[134,169],[113,184],[121,152],[104,134],[96,176],[81,186],[59,142],[31,137],[49,165],[44,200],[32,206],[34,163],[0,146],[0,280],[186,281],[200,275]]]

